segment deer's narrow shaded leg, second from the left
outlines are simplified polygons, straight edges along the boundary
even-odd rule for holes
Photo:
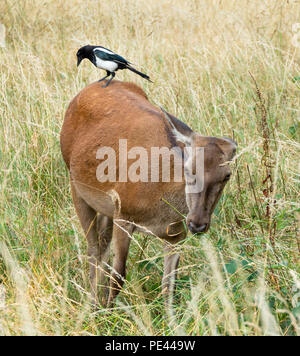
[[[112,239],[113,231],[113,221],[112,219],[99,215],[97,218],[97,228],[98,228],[98,238],[99,238],[99,247],[100,247],[100,272],[99,272],[99,282],[101,286],[101,302],[105,306],[108,298],[107,288],[108,276],[109,276],[109,251],[110,251],[110,242]]]

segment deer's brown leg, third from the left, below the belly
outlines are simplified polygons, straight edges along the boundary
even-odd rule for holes
[[[129,231],[128,231],[129,230]],[[126,225],[119,222],[114,223],[113,227],[113,270],[110,278],[110,291],[108,297],[108,306],[111,306],[114,299],[120,292],[125,280],[126,259],[130,245],[130,236],[132,228],[127,228]]]

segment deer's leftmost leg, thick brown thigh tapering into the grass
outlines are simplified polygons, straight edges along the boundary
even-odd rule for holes
[[[97,213],[77,194],[73,183],[71,183],[71,190],[73,203],[88,242],[92,303],[93,305],[98,305],[97,267],[100,262],[100,248],[98,243]]]

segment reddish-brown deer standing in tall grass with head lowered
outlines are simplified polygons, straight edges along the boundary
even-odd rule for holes
[[[99,173],[99,164],[105,162],[110,151],[105,155],[99,149],[116,152],[116,159],[111,160],[116,164],[114,176],[124,165],[128,168],[134,162],[134,154],[125,163],[121,162],[120,139],[126,140],[128,149],[142,147],[146,153],[153,147],[170,150],[177,147],[173,156],[181,157],[182,150],[188,149],[187,157],[178,161],[183,178],[175,180],[171,174],[169,181],[163,181],[159,164],[155,181],[130,181],[124,179],[124,174],[122,179],[103,179],[105,170]],[[72,200],[87,240],[93,305],[114,305],[126,277],[133,233],[163,241],[162,291],[165,299],[170,300],[180,258],[176,246],[189,232],[197,236],[208,231],[213,211],[230,179],[230,161],[237,149],[236,142],[226,137],[202,136],[152,104],[139,86],[113,81],[107,88],[92,83],[70,102],[60,144],[70,173]],[[204,152],[201,172],[195,170],[196,149]],[[173,156],[172,172],[176,158]],[[188,189],[195,175],[202,176],[199,191]],[[109,263],[111,246],[112,265]]]

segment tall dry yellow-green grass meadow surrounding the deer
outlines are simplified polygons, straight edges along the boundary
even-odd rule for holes
[[[0,335],[300,335],[299,23],[294,0],[1,0]],[[103,74],[76,67],[85,44],[135,63],[153,84],[117,79],[195,131],[238,143],[209,232],[178,246],[168,317],[152,237],[135,236],[116,306],[90,305],[59,145],[68,103]]]

